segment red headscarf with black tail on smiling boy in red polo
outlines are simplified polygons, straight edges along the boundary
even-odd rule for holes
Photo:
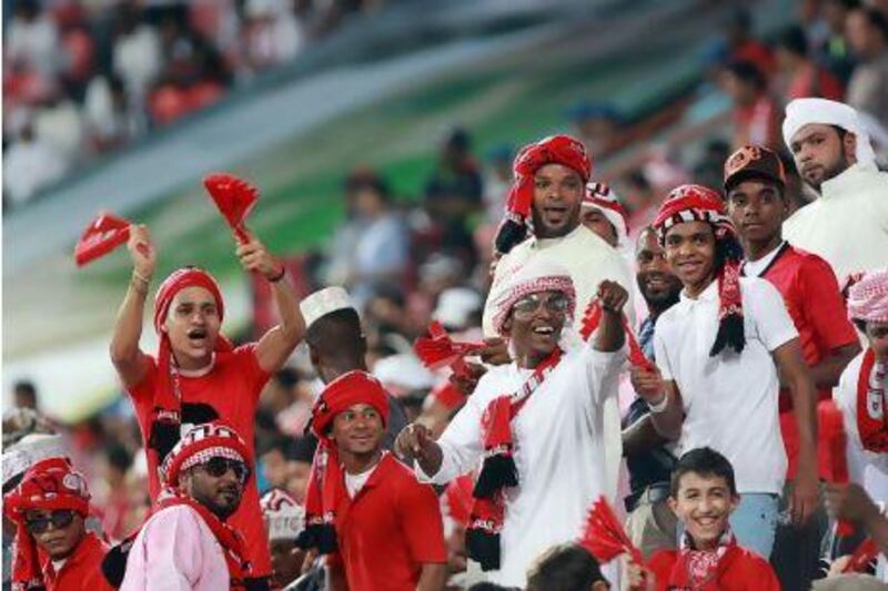
[[[327,384],[312,408],[310,428],[319,447],[305,491],[305,529],[296,544],[317,548],[322,554],[336,550],[336,506],[344,493],[342,467],[327,428],[336,415],[359,404],[376,409],[383,427],[389,424],[389,396],[380,380],[366,371],[349,371]]]

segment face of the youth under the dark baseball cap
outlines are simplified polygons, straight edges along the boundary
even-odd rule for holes
[[[778,240],[788,213],[780,187],[771,181],[749,179],[728,191],[728,215],[747,244]]]

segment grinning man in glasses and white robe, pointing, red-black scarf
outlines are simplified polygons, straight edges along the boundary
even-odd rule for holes
[[[437,441],[418,424],[397,438],[396,449],[416,459],[421,481],[444,485],[481,465],[466,549],[501,585],[523,588],[543,551],[579,536],[589,503],[607,488],[604,404],[617,393],[626,358],[628,294],[605,281],[597,295],[597,332],[581,343],[567,271],[528,263],[493,319],[514,361],[481,378]]]

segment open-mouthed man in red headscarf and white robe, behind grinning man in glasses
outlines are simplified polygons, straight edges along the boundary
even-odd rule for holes
[[[595,297],[599,284],[606,279],[630,293],[632,278],[625,259],[581,223],[585,186],[592,176],[592,160],[583,144],[567,135],[545,137],[525,145],[513,169],[515,183],[495,240],[502,257],[484,305],[485,336],[498,336],[493,322],[496,302],[518,269],[529,263],[564,266],[583,306]],[[632,298],[626,310],[633,315]],[[578,325],[573,327],[574,332],[579,330]],[[613,500],[623,455],[616,398],[606,398],[604,414],[605,493]]]

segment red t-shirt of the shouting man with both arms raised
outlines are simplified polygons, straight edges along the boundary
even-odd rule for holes
[[[233,351],[216,353],[212,369],[201,377],[179,377],[182,395],[182,422],[203,424],[215,418],[229,422],[250,450],[250,460],[255,463],[253,426],[259,404],[259,395],[271,375],[259,366],[255,343],[238,347]],[[135,406],[142,440],[148,441],[151,434],[151,411],[153,408],[154,384],[158,378],[158,364],[150,357],[145,377],[130,388],[129,395]],[[194,405],[201,405],[195,407]],[[214,416],[213,416],[214,415]],[[155,454],[148,455],[148,473],[151,499],[158,498],[160,480]],[[238,511],[228,520],[246,540],[249,559],[256,577],[271,573],[271,557],[262,509],[259,507],[255,471],[250,477]]]

